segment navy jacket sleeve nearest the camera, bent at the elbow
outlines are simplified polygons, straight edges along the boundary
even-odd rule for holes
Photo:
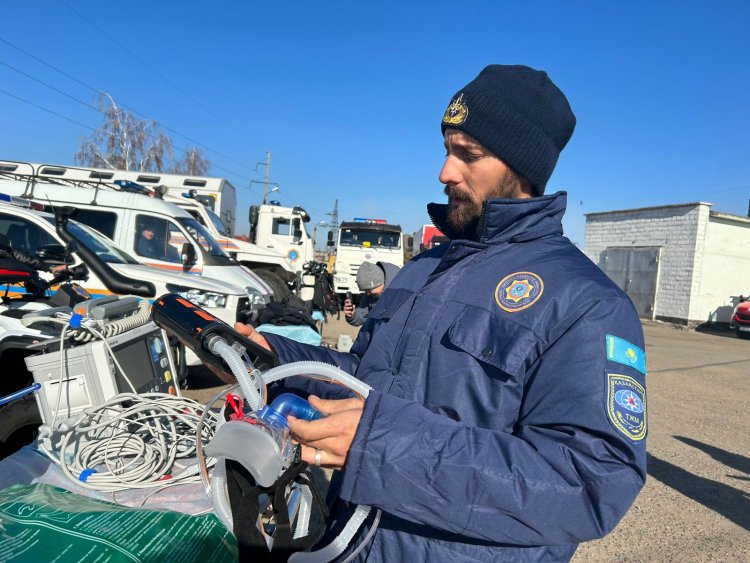
[[[642,434],[618,428],[626,411],[612,392],[626,388],[613,387],[611,374],[641,390],[645,374],[609,360],[605,342],[617,335],[643,350],[642,329],[624,298],[597,302],[566,326],[527,368],[512,433],[373,391],[341,498],[492,543],[571,544],[608,533],[645,481],[646,397],[634,399]]]

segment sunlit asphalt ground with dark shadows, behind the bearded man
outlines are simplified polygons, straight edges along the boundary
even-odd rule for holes
[[[575,563],[750,561],[750,340],[644,322],[648,481],[617,528]],[[356,335],[343,316],[323,340]],[[218,379],[191,369],[184,394],[208,401]]]

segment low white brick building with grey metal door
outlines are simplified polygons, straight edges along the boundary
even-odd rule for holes
[[[586,214],[584,252],[642,318],[728,323],[750,293],[750,218],[685,203]]]

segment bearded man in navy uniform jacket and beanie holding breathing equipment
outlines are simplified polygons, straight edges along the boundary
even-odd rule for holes
[[[442,118],[448,204],[428,210],[450,243],[404,266],[351,352],[238,325],[282,362],[326,361],[373,388],[289,381],[327,414],[289,425],[304,460],[339,470],[334,528],[352,505],[379,509],[345,555],[564,561],[643,486],[638,316],[562,236],[566,194],[544,195],[574,126],[546,73],[488,66]]]

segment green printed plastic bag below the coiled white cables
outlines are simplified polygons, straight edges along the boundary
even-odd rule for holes
[[[224,563],[237,540],[213,514],[134,509],[50,485],[0,490],[0,561]]]

